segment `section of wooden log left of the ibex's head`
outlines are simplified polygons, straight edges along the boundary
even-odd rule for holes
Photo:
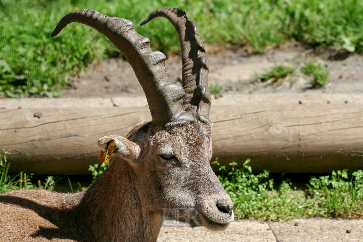
[[[34,114],[41,112],[41,117]],[[97,159],[97,141],[104,135],[122,135],[150,120],[147,107],[37,108],[0,111],[0,138],[10,151],[10,172],[36,175],[90,174]]]

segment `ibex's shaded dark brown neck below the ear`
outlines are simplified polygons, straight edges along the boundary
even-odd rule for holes
[[[115,159],[87,190],[76,208],[77,220],[86,223],[98,241],[155,242],[160,214],[142,205],[135,173],[124,160]],[[81,195],[81,194],[80,194]]]

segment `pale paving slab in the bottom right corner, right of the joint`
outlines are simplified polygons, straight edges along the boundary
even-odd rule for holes
[[[273,222],[270,226],[278,242],[363,241],[363,220],[314,218],[290,223]],[[347,230],[351,232],[347,233]]]

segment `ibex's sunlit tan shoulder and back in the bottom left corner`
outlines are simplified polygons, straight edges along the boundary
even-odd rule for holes
[[[11,191],[0,195],[0,241],[73,241],[54,236],[61,229],[57,206],[66,196],[68,194],[45,190]]]

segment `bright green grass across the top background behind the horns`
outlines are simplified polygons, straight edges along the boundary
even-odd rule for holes
[[[59,96],[59,89],[87,64],[118,56],[105,37],[72,23],[51,38],[57,22],[76,8],[93,8],[135,23],[151,39],[152,49],[178,53],[179,40],[166,19],[139,26],[152,11],[179,7],[187,11],[205,44],[250,45],[262,53],[295,38],[310,45],[363,50],[362,0],[0,0],[0,96]]]

